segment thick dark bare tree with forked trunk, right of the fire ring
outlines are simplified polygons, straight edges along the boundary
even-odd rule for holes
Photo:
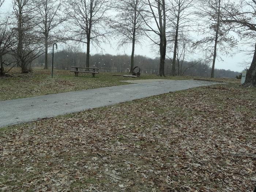
[[[147,35],[154,44],[159,46],[160,52],[160,64],[159,64],[159,76],[165,76],[165,57],[166,57],[166,8],[165,0],[148,0],[147,5],[149,10],[143,12],[142,18],[145,22],[147,28],[144,31],[153,32],[157,39]],[[156,28],[151,25],[151,20],[153,20]]]

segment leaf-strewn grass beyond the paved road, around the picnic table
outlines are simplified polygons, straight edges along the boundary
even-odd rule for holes
[[[12,69],[13,74],[17,72],[19,72],[19,69]],[[25,77],[0,78],[0,101],[128,84],[125,82],[120,82],[120,80],[193,79],[193,77],[173,76],[161,78],[156,75],[147,74],[142,74],[140,78],[127,78],[113,75],[117,75],[117,73],[101,72],[100,74],[96,74],[95,78],[93,78],[91,74],[80,73],[78,77],[75,77],[73,72],[55,70],[54,78],[52,79],[50,71],[34,69],[32,74]]]

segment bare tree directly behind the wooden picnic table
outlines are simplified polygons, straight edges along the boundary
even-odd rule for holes
[[[90,44],[100,46],[106,39],[106,12],[109,10],[108,0],[69,0],[65,13],[68,17],[67,40],[82,42],[87,45],[86,67],[90,67]]]

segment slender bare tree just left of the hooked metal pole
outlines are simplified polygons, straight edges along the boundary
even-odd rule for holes
[[[56,40],[56,35],[53,33],[54,29],[59,26],[65,18],[60,14],[61,0],[35,0],[33,2],[35,12],[37,13],[36,25],[39,28],[39,33],[44,36],[45,44],[45,66],[48,69],[48,45],[49,40],[53,42]],[[53,33],[51,33],[53,32]]]

